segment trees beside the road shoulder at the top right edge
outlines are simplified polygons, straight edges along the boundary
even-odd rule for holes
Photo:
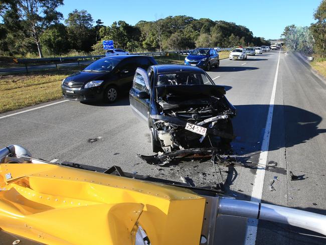
[[[313,18],[316,22],[309,27],[286,26],[282,37],[290,50],[326,57],[326,0],[321,1]]]

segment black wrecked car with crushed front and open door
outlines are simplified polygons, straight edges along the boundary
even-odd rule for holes
[[[148,123],[152,151],[169,153],[234,139],[236,109],[225,93],[201,68],[154,65],[147,71],[137,68],[129,100]]]

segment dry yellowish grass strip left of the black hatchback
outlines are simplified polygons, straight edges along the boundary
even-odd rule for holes
[[[61,81],[74,71],[0,76],[0,113],[61,98]]]

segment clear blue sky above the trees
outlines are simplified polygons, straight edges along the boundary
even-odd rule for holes
[[[285,26],[309,26],[313,23],[312,15],[320,2],[321,0],[64,0],[64,6],[58,10],[65,18],[74,9],[86,10],[94,21],[101,19],[106,26],[119,20],[135,25],[140,20],[153,21],[155,16],[209,18],[213,21],[234,22],[249,28],[254,36],[275,39],[280,37]]]

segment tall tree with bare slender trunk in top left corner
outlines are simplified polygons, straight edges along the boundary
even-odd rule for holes
[[[56,9],[63,5],[63,0],[5,0],[0,7],[0,15],[5,25],[14,20],[15,31],[28,41],[37,45],[40,58],[43,57],[40,38],[44,31],[62,19]],[[13,30],[14,31],[14,30]]]

